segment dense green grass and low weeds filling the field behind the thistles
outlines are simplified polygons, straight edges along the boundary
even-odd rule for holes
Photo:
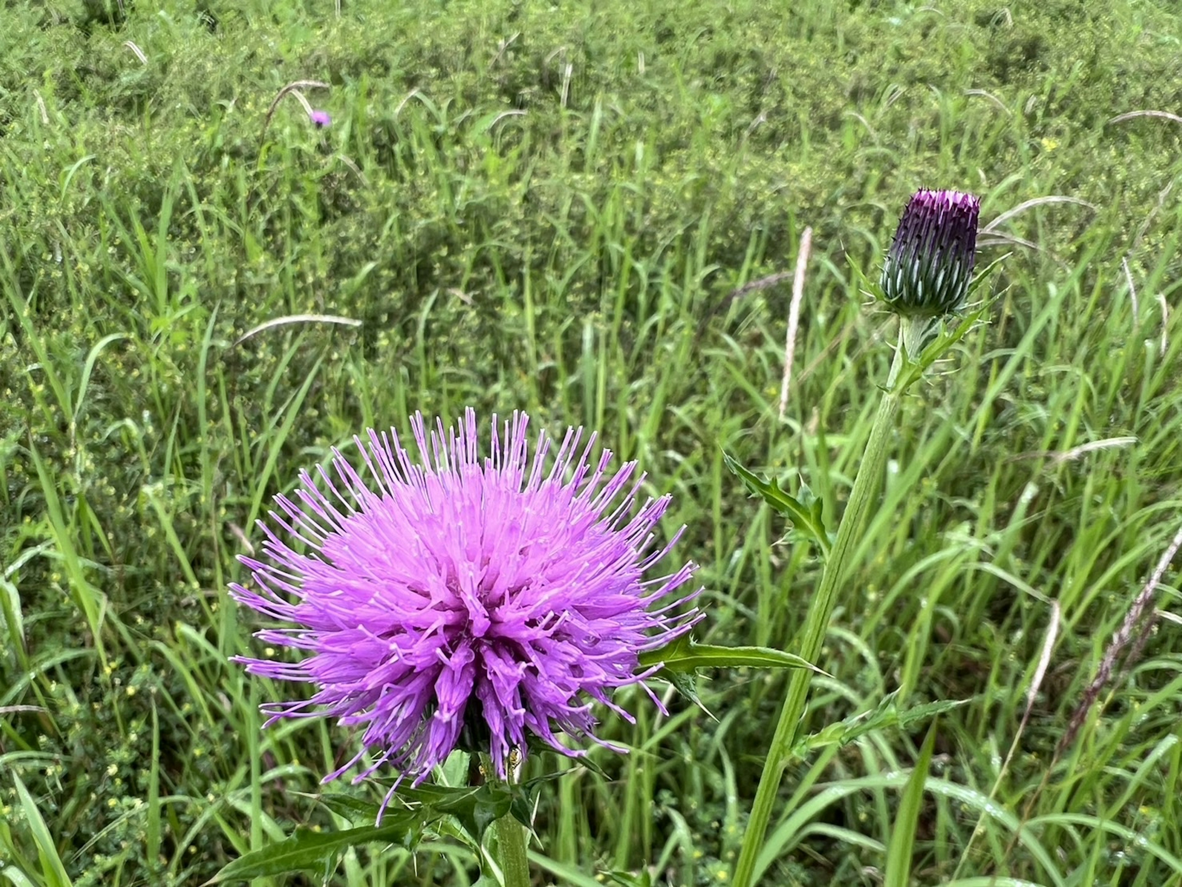
[[[1182,881],[1175,619],[1048,771],[1182,520],[1182,127],[1111,121],[1180,109],[1182,14],[780,6],[4,5],[0,875],[200,883],[297,824],[342,824],[313,795],[353,738],[260,731],[258,704],[292,688],[227,662],[259,646],[226,585],[300,467],[416,409],[598,428],[676,496],[700,636],[791,649],[818,562],[721,452],[803,477],[839,513],[892,328],[856,272],[929,184],[982,196],[982,263],[1013,254],[992,323],[904,406],[810,724],[889,693],[901,712],[963,700],[941,719],[917,883],[957,866],[963,885]],[[306,90],[331,128],[290,97],[265,128],[297,79],[331,84]],[[730,293],[790,270],[805,226],[780,422],[786,286]],[[304,313],[359,324],[239,342]],[[1135,442],[1085,446],[1117,438]],[[782,675],[701,689],[719,723],[625,698],[638,725],[606,734],[636,751],[596,755],[619,778],[578,770],[544,792],[539,883],[647,866],[727,881]],[[884,723],[790,768],[765,882],[878,883],[927,726]],[[331,882],[475,876],[441,835],[351,854]]]

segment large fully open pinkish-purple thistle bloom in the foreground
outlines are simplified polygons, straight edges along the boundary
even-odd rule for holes
[[[617,687],[639,684],[662,707],[644,684],[656,669],[639,671],[638,654],[702,616],[686,606],[701,589],[663,601],[695,564],[643,578],[681,536],[652,546],[670,497],[636,507],[636,462],[609,474],[611,453],[590,461],[595,435],[580,447],[582,428],[567,429],[545,471],[551,441],[540,434],[531,458],[528,421],[514,413],[498,436],[494,416],[482,459],[472,409],[455,428],[436,420],[429,438],[416,414],[421,465],[396,433],[370,430],[355,442],[374,485],[333,451],[338,481],[320,467],[322,490],[305,471],[294,497],[275,497],[271,526],[261,525],[266,561],[241,558],[259,590],[230,589],[294,623],[258,637],[311,655],[235,661],[316,685],[311,699],[265,705],[268,725],[330,716],[365,726],[362,751],[325,782],[372,750],[355,782],[389,763],[417,784],[457,745],[476,750],[504,778],[511,750],[524,752],[531,737],[571,757],[584,752],[558,732],[609,745],[592,732],[591,705],[632,721],[611,701]]]

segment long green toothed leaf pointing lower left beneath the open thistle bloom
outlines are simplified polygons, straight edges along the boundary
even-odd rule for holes
[[[391,822],[395,820],[395,822]],[[253,878],[281,875],[287,872],[319,869],[326,859],[358,844],[382,842],[401,843],[418,822],[411,814],[387,812],[381,826],[345,829],[344,831],[298,830],[286,841],[269,844],[239,856],[206,881],[207,885],[227,881],[249,881]]]

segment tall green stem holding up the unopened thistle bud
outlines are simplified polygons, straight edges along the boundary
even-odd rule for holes
[[[886,440],[895,427],[895,417],[903,396],[902,389],[896,390],[895,382],[903,367],[907,351],[904,343],[914,342],[917,335],[916,324],[928,323],[927,318],[900,318],[900,339],[895,348],[895,361],[891,364],[886,386],[883,388],[882,400],[878,402],[878,414],[870,429],[866,451],[858,466],[858,474],[853,480],[853,490],[850,491],[850,499],[845,506],[842,523],[837,529],[837,539],[833,542],[829,559],[825,562],[820,585],[808,607],[801,647],[795,650],[810,662],[817,662],[820,656],[821,645],[829,633],[829,620],[833,615],[833,607],[837,603],[838,589],[845,578],[846,558],[855,546],[855,540],[862,535],[870,503],[877,499],[882,488],[883,468],[886,464]],[[812,674],[812,671],[807,668],[797,668],[788,678],[788,689],[784,699],[784,708],[780,710],[780,721],[775,727],[775,736],[767,752],[767,760],[759,779],[759,788],[755,790],[755,801],[752,804],[751,818],[743,835],[742,848],[739,852],[734,887],[751,887],[753,883],[755,861],[764,847],[767,823],[772,818],[772,807],[779,794],[784,770],[788,764],[788,752],[797,743],[805,705],[808,700],[808,685]]]

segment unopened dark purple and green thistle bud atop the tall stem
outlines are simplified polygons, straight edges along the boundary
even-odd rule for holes
[[[942,317],[968,300],[981,201],[956,190],[917,192],[903,211],[878,285],[891,311]]]

